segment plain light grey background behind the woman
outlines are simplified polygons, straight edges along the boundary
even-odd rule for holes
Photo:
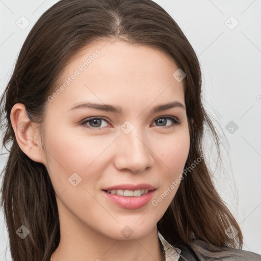
[[[1,93],[29,31],[56,2],[0,0]],[[261,254],[261,1],[155,2],[178,23],[199,58],[204,105],[223,130],[223,165],[218,166],[214,180],[241,225],[243,249]],[[27,20],[30,24],[24,29]],[[206,141],[214,170],[215,151],[211,139]],[[1,169],[5,161],[2,156]],[[11,260],[2,212],[0,234],[0,259]]]

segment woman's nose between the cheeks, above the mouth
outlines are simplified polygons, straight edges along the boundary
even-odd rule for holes
[[[129,134],[121,133],[117,139],[114,165],[118,170],[144,171],[153,165],[153,152],[148,138],[137,128]]]

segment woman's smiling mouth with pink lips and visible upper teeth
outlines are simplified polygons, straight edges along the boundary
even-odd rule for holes
[[[132,210],[146,205],[154,192],[155,188],[148,184],[124,184],[102,189],[102,194],[111,203]]]

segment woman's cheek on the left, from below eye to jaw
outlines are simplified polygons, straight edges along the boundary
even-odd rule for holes
[[[45,135],[48,151],[46,169],[58,199],[66,206],[64,210],[69,210],[75,216],[81,210],[83,217],[91,213],[92,209],[104,211],[97,204],[94,191],[97,190],[98,181],[107,166],[106,148],[113,139],[83,137],[83,133],[76,131],[72,134],[62,127],[46,131]]]

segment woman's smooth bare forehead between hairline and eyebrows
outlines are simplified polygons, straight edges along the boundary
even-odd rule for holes
[[[119,40],[93,42],[65,67],[57,87],[63,90],[55,100],[67,109],[87,99],[117,101],[119,106],[184,101],[183,83],[173,77],[177,69],[168,54],[151,46]]]

